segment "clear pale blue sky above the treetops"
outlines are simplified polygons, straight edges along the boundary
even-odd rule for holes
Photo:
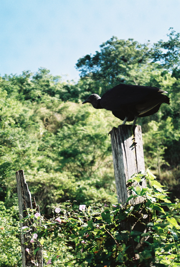
[[[102,42],[167,40],[179,13],[179,0],[0,0],[0,74],[45,67],[77,81],[77,60]]]

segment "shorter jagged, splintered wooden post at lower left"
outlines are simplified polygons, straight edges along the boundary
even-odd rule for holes
[[[28,189],[28,185],[26,183],[23,170],[18,170],[16,172],[16,180],[17,180],[17,194],[18,194],[18,203],[19,203],[19,218],[22,220],[27,216],[27,210],[32,209],[32,201],[31,201],[31,193]],[[34,207],[36,208],[36,203],[34,200]],[[39,208],[37,207],[37,212],[39,212]],[[25,224],[22,222],[20,226],[31,226],[32,221],[28,221]],[[40,223],[40,222],[38,222]],[[23,267],[29,266],[38,266],[43,267],[43,256],[42,250],[38,250],[36,255],[34,255],[34,249],[36,245],[33,247],[30,243],[31,233],[34,232],[34,228],[31,227],[32,231],[26,232],[25,234],[21,234],[21,251],[22,251],[22,265]]]

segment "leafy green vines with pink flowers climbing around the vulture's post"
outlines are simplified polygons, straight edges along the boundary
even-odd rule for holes
[[[147,187],[141,188],[144,179]],[[82,204],[74,210],[69,201],[69,205],[56,207],[50,220],[39,214],[42,226],[35,219],[31,237],[45,251],[45,262],[54,266],[179,266],[180,226],[172,217],[177,205],[169,201],[149,170],[128,182],[130,196],[124,205]],[[33,217],[29,211],[24,223]],[[33,247],[26,246],[33,257]]]

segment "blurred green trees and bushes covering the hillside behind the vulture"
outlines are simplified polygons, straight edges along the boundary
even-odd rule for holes
[[[172,201],[180,198],[180,35],[170,29],[168,38],[151,45],[112,37],[95,55],[78,60],[77,83],[44,68],[0,77],[0,201],[7,210],[13,207],[14,219],[19,169],[41,213],[48,216],[54,205],[68,200],[76,201],[74,209],[82,203],[117,201],[108,132],[121,121],[81,103],[119,83],[168,91],[171,105],[163,104],[158,113],[137,123],[146,167],[172,192]]]

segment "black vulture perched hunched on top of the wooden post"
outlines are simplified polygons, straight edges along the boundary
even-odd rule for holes
[[[123,121],[134,121],[156,113],[162,103],[170,104],[167,93],[157,87],[118,84],[108,90],[102,97],[90,95],[84,103],[91,103],[95,109],[111,110],[112,114]]]

